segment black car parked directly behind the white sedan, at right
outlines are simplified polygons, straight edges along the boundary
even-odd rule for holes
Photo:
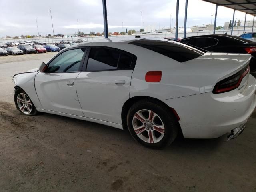
[[[191,44],[211,52],[249,53],[250,73],[256,77],[256,42],[231,35],[200,35],[187,37],[180,42]]]

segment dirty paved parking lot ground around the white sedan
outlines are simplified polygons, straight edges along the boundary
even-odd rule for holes
[[[179,137],[164,150],[145,148],[126,131],[101,124],[20,114],[13,74],[54,54],[0,57],[1,192],[256,190],[255,111],[235,140]]]

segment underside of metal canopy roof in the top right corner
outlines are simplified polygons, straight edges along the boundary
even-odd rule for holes
[[[256,0],[203,0],[256,16]]]

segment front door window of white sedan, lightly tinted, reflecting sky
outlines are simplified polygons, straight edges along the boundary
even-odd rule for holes
[[[86,48],[72,49],[58,55],[48,66],[48,72],[77,72]]]

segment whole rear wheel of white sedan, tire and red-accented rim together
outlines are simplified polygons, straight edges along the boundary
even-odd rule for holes
[[[127,115],[128,130],[140,144],[161,149],[170,145],[178,134],[178,121],[162,103],[142,100],[133,104]]]

